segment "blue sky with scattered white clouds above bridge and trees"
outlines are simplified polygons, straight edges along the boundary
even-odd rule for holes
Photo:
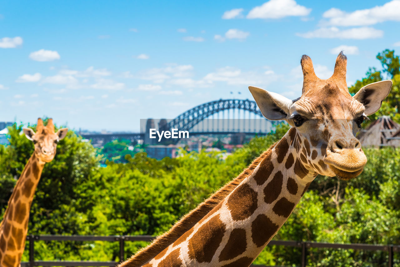
[[[2,1],[0,121],[136,131],[249,85],[300,96],[300,58],[348,85],[400,46],[392,1]],[[397,53],[399,54],[399,53]],[[230,94],[234,92],[234,94]],[[238,94],[241,92],[241,94]]]

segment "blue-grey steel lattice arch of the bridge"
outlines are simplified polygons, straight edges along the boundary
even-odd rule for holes
[[[258,108],[255,101],[240,100],[240,99],[227,99],[227,100],[215,100],[198,105],[186,112],[180,114],[168,124],[166,124],[165,129],[179,129],[180,131],[189,131],[194,126],[199,124],[202,120],[222,112],[224,110],[246,110],[250,113],[256,114],[262,117],[261,111]],[[272,126],[278,125],[281,121],[270,121]]]

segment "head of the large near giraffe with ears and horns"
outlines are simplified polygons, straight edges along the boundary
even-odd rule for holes
[[[340,52],[332,77],[318,78],[311,59],[304,55],[302,95],[289,100],[279,94],[250,86],[264,117],[286,120],[296,129],[296,153],[305,167],[327,176],[351,179],[367,162],[355,137],[368,115],[379,110],[392,81],[368,84],[351,96],[346,83],[346,56]]]

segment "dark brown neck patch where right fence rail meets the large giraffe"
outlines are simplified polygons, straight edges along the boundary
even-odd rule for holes
[[[258,215],[251,225],[251,237],[254,244],[257,247],[265,245],[270,237],[278,231],[278,228],[278,225],[273,223],[265,214]]]

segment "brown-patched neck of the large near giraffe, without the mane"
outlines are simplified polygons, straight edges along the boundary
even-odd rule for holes
[[[249,266],[316,177],[301,159],[302,143],[290,129],[236,189],[144,266]]]

